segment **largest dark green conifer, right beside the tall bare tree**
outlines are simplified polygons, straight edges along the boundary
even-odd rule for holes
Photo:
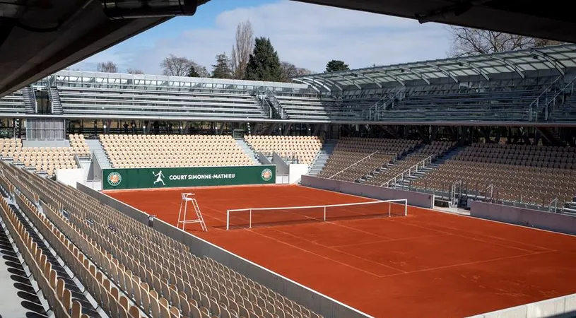
[[[270,39],[257,37],[254,52],[250,54],[246,67],[246,80],[249,81],[282,81],[283,72],[278,52]]]

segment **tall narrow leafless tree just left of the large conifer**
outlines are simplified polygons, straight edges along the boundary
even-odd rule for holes
[[[254,30],[250,20],[238,23],[236,27],[236,43],[232,47],[230,64],[234,78],[244,78],[250,54],[254,49]]]

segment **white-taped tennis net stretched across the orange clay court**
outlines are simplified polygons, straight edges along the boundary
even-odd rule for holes
[[[394,199],[324,206],[236,208],[226,211],[226,230],[353,218],[407,216],[408,201]]]

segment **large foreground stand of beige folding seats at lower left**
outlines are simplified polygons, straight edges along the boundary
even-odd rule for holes
[[[2,191],[16,198],[3,200],[0,217],[57,317],[320,317],[76,189],[6,163],[0,172]],[[80,293],[50,267],[49,247]]]

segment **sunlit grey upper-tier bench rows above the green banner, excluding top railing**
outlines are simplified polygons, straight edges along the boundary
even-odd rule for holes
[[[66,115],[266,118],[258,100],[245,93],[58,86],[57,94]]]

